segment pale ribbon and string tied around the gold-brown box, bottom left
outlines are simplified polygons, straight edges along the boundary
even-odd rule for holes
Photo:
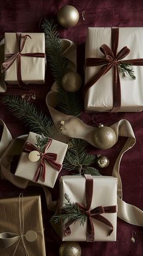
[[[1,247],[7,248],[12,246],[12,244],[16,243],[18,241],[18,244],[15,247],[15,251],[13,252],[13,255],[15,255],[16,250],[18,249],[19,243],[22,241],[23,247],[25,249],[25,255],[30,256],[28,254],[28,251],[25,246],[25,241],[24,241],[24,208],[23,208],[23,194],[19,194],[19,199],[18,199],[18,205],[19,205],[19,224],[20,224],[20,235],[15,234],[15,233],[10,233],[10,232],[4,232],[0,233],[0,244]],[[22,208],[22,210],[21,210]],[[22,219],[21,219],[22,215]]]

